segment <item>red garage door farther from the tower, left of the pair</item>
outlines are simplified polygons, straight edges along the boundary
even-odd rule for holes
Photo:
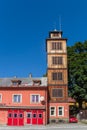
[[[10,126],[24,125],[24,111],[23,110],[9,110],[7,124]]]

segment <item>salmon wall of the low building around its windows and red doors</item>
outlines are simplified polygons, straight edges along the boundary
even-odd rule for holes
[[[47,109],[47,90],[46,89],[20,89],[20,88],[0,88],[0,94],[2,94],[2,102],[0,102],[0,124],[7,124],[7,116],[8,116],[8,109],[7,107],[10,106],[29,106],[29,107],[42,107],[44,106]],[[21,103],[13,103],[12,95],[13,94],[22,94],[22,102]],[[39,103],[31,103],[30,102],[30,95],[31,94],[39,94],[40,96],[44,96],[45,104]],[[5,108],[2,104],[6,104]],[[26,107],[25,107],[26,108]],[[17,109],[17,108],[16,108]],[[47,111],[43,110],[43,124],[47,122]],[[27,122],[26,117],[26,110],[24,109],[24,124]]]

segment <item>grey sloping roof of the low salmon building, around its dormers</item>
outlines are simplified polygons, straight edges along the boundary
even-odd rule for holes
[[[47,77],[40,77],[40,78],[32,78],[32,77],[27,77],[27,78],[17,78],[17,77],[12,77],[12,78],[0,78],[0,87],[10,87],[12,86],[13,81],[21,81],[20,86],[33,86],[34,81],[41,81],[39,86],[47,86]]]

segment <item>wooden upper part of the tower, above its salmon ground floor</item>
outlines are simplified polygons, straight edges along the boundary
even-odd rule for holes
[[[47,77],[50,102],[66,102],[68,97],[67,49],[62,31],[49,32],[47,46]]]

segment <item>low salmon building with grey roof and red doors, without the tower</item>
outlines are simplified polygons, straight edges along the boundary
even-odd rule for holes
[[[47,78],[0,79],[0,124],[47,123]]]

